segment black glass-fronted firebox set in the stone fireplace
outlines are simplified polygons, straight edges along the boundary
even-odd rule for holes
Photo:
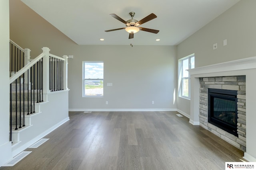
[[[238,137],[236,90],[208,89],[208,122]]]

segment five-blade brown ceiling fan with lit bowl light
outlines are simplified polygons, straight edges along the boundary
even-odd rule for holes
[[[156,18],[157,16],[155,14],[152,13],[152,14],[146,16],[145,18],[143,18],[140,21],[137,21],[137,20],[133,19],[134,15],[135,15],[135,12],[130,12],[129,14],[132,17],[132,19],[127,20],[127,21],[124,21],[122,18],[120,18],[116,14],[110,14],[112,17],[116,18],[117,20],[121,21],[122,23],[125,23],[126,27],[117,28],[117,29],[110,29],[110,30],[106,30],[106,32],[125,29],[129,33],[129,39],[134,38],[134,33],[138,32],[140,30],[141,31],[147,31],[147,32],[150,32],[150,33],[155,33],[155,34],[157,34],[159,32],[159,30],[156,30],[156,29],[149,29],[149,28],[139,27],[143,23],[148,22],[148,21],[153,20],[154,18]]]

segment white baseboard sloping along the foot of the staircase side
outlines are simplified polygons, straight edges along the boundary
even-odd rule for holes
[[[40,135],[34,137],[34,139],[28,141],[27,143],[24,143],[22,146],[19,146],[17,149],[12,150],[12,157],[16,156],[17,154],[19,154],[20,152],[22,152],[23,150],[27,149],[29,146],[31,146],[32,144],[36,143],[37,141],[39,141],[40,139],[42,139],[44,136],[48,135],[49,133],[51,133],[52,131],[54,131],[55,129],[57,129],[60,125],[62,125],[63,123],[65,123],[66,121],[69,120],[69,117],[66,117],[65,119],[63,119],[62,121],[60,121],[59,123],[57,123],[56,125],[50,127],[48,130],[44,131],[43,133],[41,133]],[[14,147],[14,146],[12,146]]]

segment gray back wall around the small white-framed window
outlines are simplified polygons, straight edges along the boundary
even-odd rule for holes
[[[82,61],[104,61],[103,98],[82,98]],[[80,46],[68,63],[70,109],[176,109],[175,46]]]

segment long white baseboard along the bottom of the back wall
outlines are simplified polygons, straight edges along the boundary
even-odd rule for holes
[[[68,109],[68,111],[176,111],[177,109]]]

